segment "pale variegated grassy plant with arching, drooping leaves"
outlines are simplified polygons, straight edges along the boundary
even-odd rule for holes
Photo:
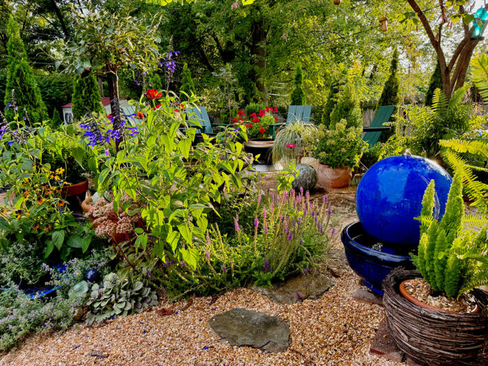
[[[278,130],[273,144],[273,164],[282,160],[287,167],[291,160],[297,160],[303,154],[305,143],[303,138],[317,132],[317,126],[301,120],[289,123]]]

